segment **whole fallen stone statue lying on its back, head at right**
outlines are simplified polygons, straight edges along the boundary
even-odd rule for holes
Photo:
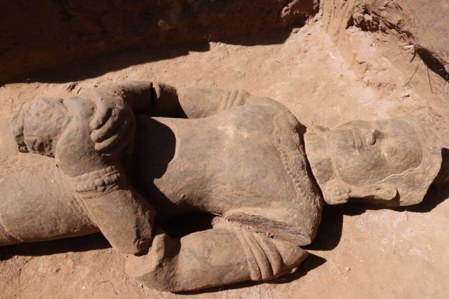
[[[0,245],[101,231],[157,290],[266,281],[306,258],[324,203],[421,202],[449,179],[442,148],[412,117],[306,129],[244,91],[128,81],[38,98],[0,120]],[[156,228],[194,212],[213,228]]]

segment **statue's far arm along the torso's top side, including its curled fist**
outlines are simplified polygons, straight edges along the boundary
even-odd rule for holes
[[[79,95],[94,103],[91,139],[99,152],[110,151],[129,129],[131,114],[154,117],[205,118],[236,106],[269,106],[288,109],[269,98],[243,90],[176,88],[147,81],[104,84]]]

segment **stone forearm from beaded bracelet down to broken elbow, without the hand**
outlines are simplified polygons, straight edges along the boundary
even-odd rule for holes
[[[109,166],[72,178],[72,188],[112,247],[130,254],[150,247],[156,212],[119,169]]]

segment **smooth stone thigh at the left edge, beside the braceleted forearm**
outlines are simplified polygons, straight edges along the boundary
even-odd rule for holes
[[[72,195],[69,180],[53,163],[37,159],[3,172],[0,190],[0,246],[98,232]]]

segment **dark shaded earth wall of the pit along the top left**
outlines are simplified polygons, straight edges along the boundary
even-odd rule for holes
[[[0,1],[0,82],[122,49],[286,29],[317,0]]]

